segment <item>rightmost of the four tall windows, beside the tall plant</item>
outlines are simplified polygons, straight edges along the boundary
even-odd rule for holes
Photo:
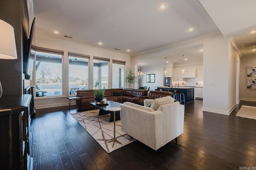
[[[124,65],[125,61],[113,60],[112,88],[124,88]]]

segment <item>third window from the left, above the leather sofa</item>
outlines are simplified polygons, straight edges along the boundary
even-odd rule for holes
[[[110,59],[93,57],[93,89],[109,88]]]

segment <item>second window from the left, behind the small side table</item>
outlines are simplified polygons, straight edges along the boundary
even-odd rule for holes
[[[90,56],[68,53],[69,95],[76,95],[76,90],[88,89],[88,63]]]

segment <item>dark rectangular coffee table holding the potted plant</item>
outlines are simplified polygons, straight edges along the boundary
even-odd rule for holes
[[[106,115],[110,113],[110,119],[109,121],[114,121],[114,112],[108,111],[111,107],[120,107],[121,103],[115,102],[115,101],[107,101],[108,104],[102,105],[102,104],[96,104],[96,102],[92,102],[90,104],[94,105],[96,108],[100,109],[99,115]],[[116,120],[120,120],[120,111],[116,111]]]

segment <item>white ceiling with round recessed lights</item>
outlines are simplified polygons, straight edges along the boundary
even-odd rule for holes
[[[248,1],[253,4],[248,4]],[[200,2],[199,0],[34,0],[36,33],[136,55],[220,30],[228,38],[232,35],[230,39],[238,51],[241,49],[240,54],[252,53],[252,51],[248,53],[248,50],[244,50],[242,46],[244,42],[256,41],[256,34],[252,36],[248,33],[250,29],[256,29],[256,22],[253,20],[254,10],[252,10],[256,6],[255,0],[247,0],[246,4],[241,0],[225,0],[225,2],[200,0]],[[158,8],[160,4],[166,4],[167,8],[160,10]],[[247,8],[251,11],[248,12]],[[252,19],[248,18],[249,16]],[[236,20],[237,18],[239,20]],[[244,27],[241,27],[243,24]],[[190,27],[193,27],[194,31],[188,31]],[[60,33],[56,35],[54,31]],[[102,42],[102,45],[97,45],[98,42]],[[173,58],[173,61],[181,59],[184,53],[187,55],[191,53],[193,56],[194,51],[199,51],[202,47],[203,45],[198,45],[175,53],[158,55],[158,59],[154,62],[148,61],[145,66],[149,63],[161,64],[167,55],[170,60]],[[127,49],[130,49],[130,52],[127,52]],[[194,59],[202,60],[202,56],[202,52],[197,53]]]

